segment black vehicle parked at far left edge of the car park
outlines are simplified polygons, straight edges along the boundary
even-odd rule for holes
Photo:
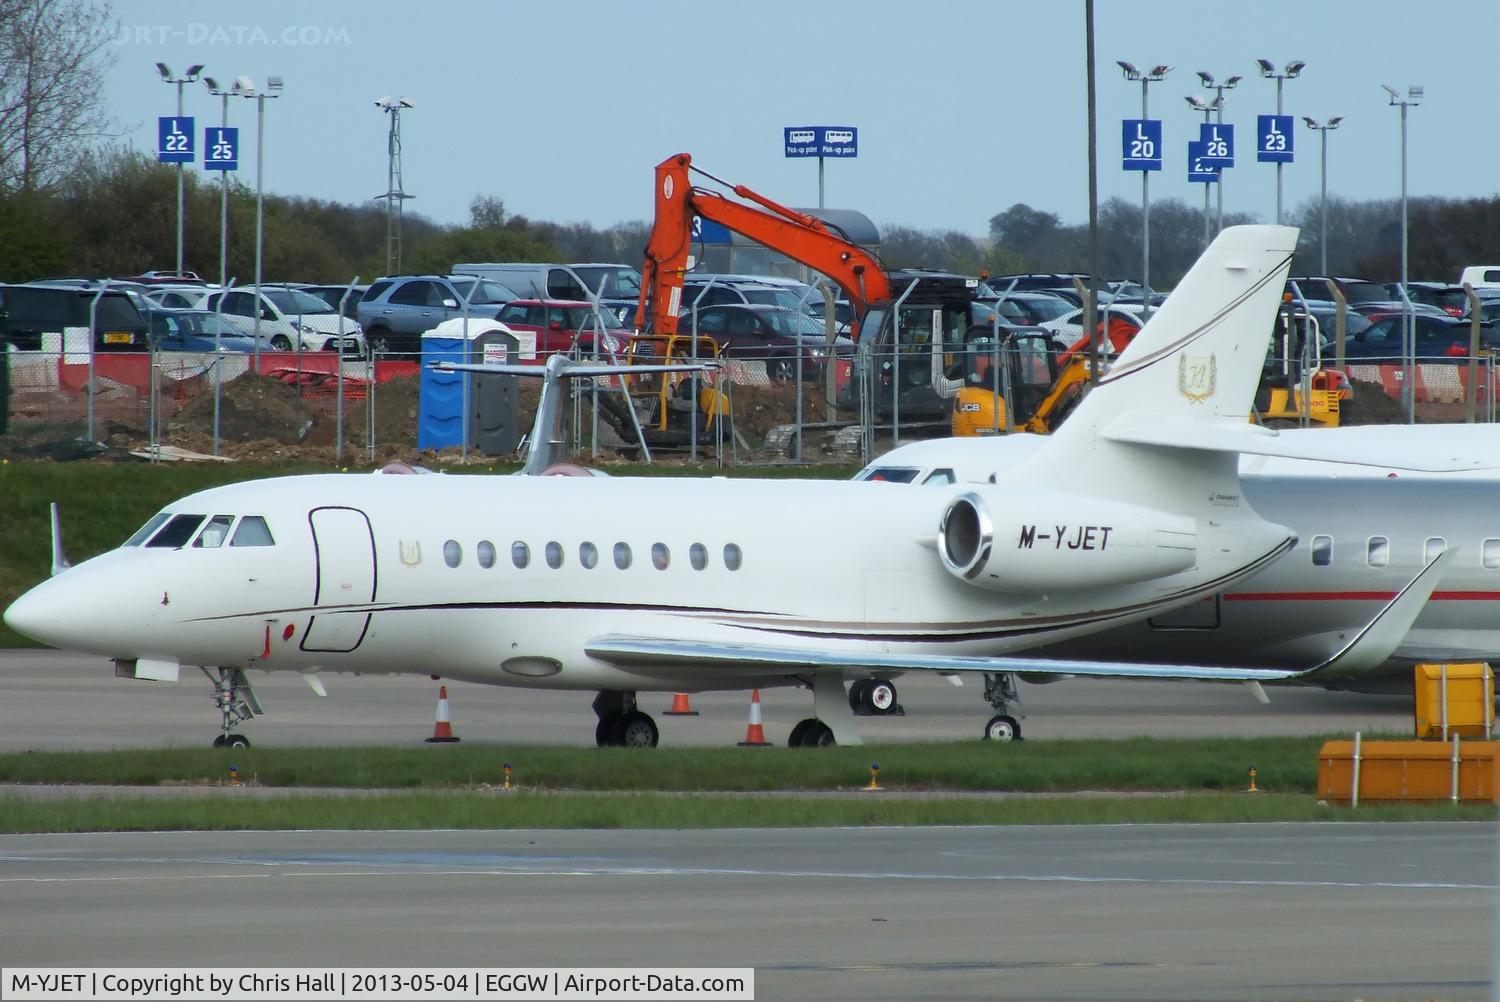
[[[40,351],[48,344],[62,350],[68,328],[88,328],[90,310],[96,351],[147,350],[150,327],[142,300],[126,290],[100,294],[88,285],[0,286],[0,339],[16,351]]]

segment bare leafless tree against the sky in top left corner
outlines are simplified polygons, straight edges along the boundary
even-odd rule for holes
[[[0,0],[0,189],[46,190],[108,134],[108,0]]]

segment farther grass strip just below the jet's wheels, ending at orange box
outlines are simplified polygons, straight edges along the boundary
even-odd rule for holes
[[[1335,736],[1335,735],[1329,735]],[[1376,736],[1376,735],[1371,735]],[[918,742],[837,748],[130,748],[0,754],[4,783],[150,786],[222,782],[231,764],[261,786],[438,789],[498,784],[504,764],[530,789],[1239,790],[1256,766],[1268,792],[1317,789],[1323,736]]]

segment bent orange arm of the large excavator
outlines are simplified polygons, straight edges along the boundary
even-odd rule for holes
[[[820,219],[788,208],[744,184],[734,184],[734,194],[764,208],[694,188],[688,178],[690,170],[696,168],[687,153],[668,158],[656,168],[656,220],[651,226],[651,240],[646,243],[645,264],[640,268],[638,330],[657,334],[678,332],[682,278],[693,244],[693,216],[722,224],[826,274],[849,297],[856,318],[864,315],[870,303],[891,298],[891,284],[880,262],[870,252],[836,234]]]

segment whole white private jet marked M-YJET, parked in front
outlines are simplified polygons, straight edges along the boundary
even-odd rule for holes
[[[858,741],[858,690],[903,672],[1275,681],[1383,663],[1438,555],[1332,657],[1212,669],[1020,657],[1224,591],[1294,542],[1245,500],[1245,423],[1296,230],[1204,252],[1056,435],[1005,484],[306,476],[172,502],[54,574],[12,628],[214,681],[222,744],[258,711],[246,670],[412,672],[596,690],[600,744],[650,746],[638,692],[800,684],[795,746]],[[796,519],[819,512],[832,518]],[[988,688],[988,687],[987,687]],[[1004,705],[1004,704],[1000,704]],[[1004,711],[992,736],[1016,732]]]

